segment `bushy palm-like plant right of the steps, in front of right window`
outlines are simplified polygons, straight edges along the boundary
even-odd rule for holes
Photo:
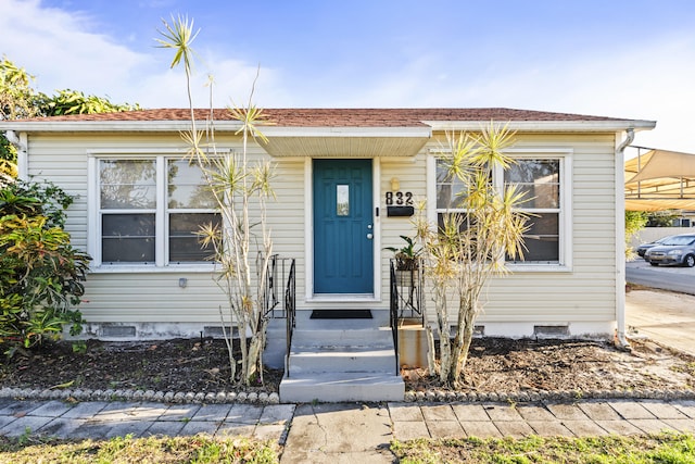
[[[507,272],[505,255],[523,253],[529,217],[517,209],[523,196],[516,186],[500,190],[492,183],[496,167],[514,162],[506,153],[513,140],[506,126],[493,123],[479,134],[447,134],[441,175],[463,188],[451,199],[438,225],[429,224],[422,213],[416,218],[440,340],[438,356],[432,324],[427,321],[428,367],[444,385],[456,386],[463,380],[485,285],[492,276]]]

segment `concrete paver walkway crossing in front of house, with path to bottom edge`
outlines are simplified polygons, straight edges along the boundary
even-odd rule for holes
[[[389,463],[393,439],[695,432],[695,401],[164,404],[0,399],[0,435],[103,439],[207,434],[268,439],[283,463]]]

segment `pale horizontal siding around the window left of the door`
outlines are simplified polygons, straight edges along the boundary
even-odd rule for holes
[[[239,149],[230,138],[220,145]],[[33,135],[28,145],[28,172],[38,179],[51,180],[76,197],[68,210],[67,231],[73,244],[86,249],[89,153],[170,151],[182,153],[178,135]],[[253,162],[263,151],[250,150]],[[185,288],[179,278],[187,279]],[[212,273],[91,273],[87,277],[84,303],[79,306],[89,323],[181,322],[219,324],[219,308],[225,296]]]

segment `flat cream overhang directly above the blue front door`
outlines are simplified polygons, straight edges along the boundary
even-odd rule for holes
[[[415,156],[431,137],[429,127],[263,128],[263,148],[273,156]]]

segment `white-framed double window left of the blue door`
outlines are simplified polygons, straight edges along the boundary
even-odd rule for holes
[[[210,260],[201,226],[219,226],[201,168],[165,156],[98,160],[102,264],[174,265]]]

